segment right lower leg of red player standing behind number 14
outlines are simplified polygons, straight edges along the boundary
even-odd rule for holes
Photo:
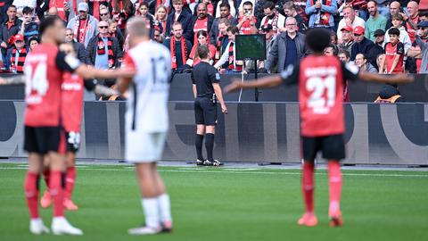
[[[78,210],[78,205],[71,201],[71,195],[73,194],[76,182],[76,154],[70,151],[67,152],[65,162],[67,169],[65,170],[64,206],[67,210],[76,211]]]

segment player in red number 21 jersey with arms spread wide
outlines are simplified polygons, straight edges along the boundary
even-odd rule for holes
[[[332,227],[342,225],[340,199],[342,193],[342,171],[340,160],[345,158],[343,133],[343,84],[345,79],[404,83],[413,81],[404,74],[383,76],[368,72],[358,72],[356,66],[345,64],[335,56],[324,56],[323,51],[330,42],[330,34],[325,29],[311,29],[306,37],[313,54],[303,59],[299,65],[290,67],[280,75],[259,80],[235,81],[226,87],[226,92],[241,88],[277,87],[299,85],[300,136],[303,154],[302,191],[306,212],[298,220],[299,225],[316,226],[314,212],[314,160],[318,151],[328,160],[328,183],[330,189],[329,217]]]

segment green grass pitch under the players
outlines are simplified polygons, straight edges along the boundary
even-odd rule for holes
[[[325,170],[317,171],[316,228],[296,220],[303,211],[299,170],[161,168],[172,200],[170,235],[129,237],[143,222],[135,173],[126,166],[78,169],[68,219],[83,237],[34,237],[22,190],[25,170],[0,164],[0,240],[428,240],[428,172],[345,170],[345,225],[327,220]],[[42,186],[44,188],[44,185]],[[41,211],[50,225],[52,209]]]

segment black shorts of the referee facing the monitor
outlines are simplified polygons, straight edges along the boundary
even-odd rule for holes
[[[196,125],[217,125],[217,102],[208,97],[197,97],[194,100],[194,119]]]

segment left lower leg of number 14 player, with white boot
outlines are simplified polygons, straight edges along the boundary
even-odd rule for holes
[[[43,169],[43,155],[29,153],[29,170],[24,181],[25,197],[29,207],[29,230],[33,234],[49,233],[38,213],[37,198],[40,172]]]

